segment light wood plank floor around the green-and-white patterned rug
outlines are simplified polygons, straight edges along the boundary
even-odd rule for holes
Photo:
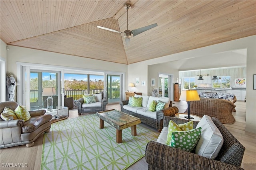
[[[243,101],[237,101],[236,112],[233,112],[233,115],[236,119],[236,122],[231,125],[225,124],[225,127],[230,130],[230,132],[244,145],[246,148],[244,152],[244,158],[242,161],[242,168],[245,170],[253,170],[256,169],[256,134],[245,132],[245,106],[246,103]],[[174,102],[173,106],[179,108],[179,113],[184,113],[187,108],[187,104],[184,101]],[[118,109],[120,110],[119,104],[108,104],[107,110],[109,109]],[[70,110],[70,116],[68,119],[78,117],[77,110]],[[88,114],[82,114],[82,116],[86,116]],[[147,125],[145,125],[147,126]],[[150,127],[149,127],[150,128]],[[154,128],[152,130],[157,131]],[[14,146],[11,148],[0,149],[0,169],[1,170],[40,170],[41,164],[41,155],[42,155],[42,140],[43,135],[35,141],[35,144],[31,148],[26,148],[26,145],[22,146]],[[19,163],[22,164],[23,168],[6,168],[4,167],[5,163]],[[146,163],[145,158],[142,158],[132,166],[128,168],[128,170],[146,170],[148,169],[148,164]]]

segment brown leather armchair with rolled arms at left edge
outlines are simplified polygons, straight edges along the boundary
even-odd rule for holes
[[[10,108],[13,111],[18,106],[14,101],[0,103],[0,111]],[[34,145],[34,141],[44,132],[51,128],[51,115],[44,115],[45,110],[29,111],[31,118],[23,120],[4,121],[0,118],[0,148],[8,148],[16,145],[26,144],[26,147]]]

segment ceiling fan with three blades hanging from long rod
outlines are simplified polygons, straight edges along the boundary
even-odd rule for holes
[[[112,30],[110,28],[105,28],[105,27],[102,27],[102,26],[97,26],[97,28],[101,28],[101,29],[104,29],[104,30],[124,34],[125,42],[129,46],[130,45],[130,38],[132,38],[132,34],[133,34],[133,36],[137,36],[138,34],[140,34],[142,32],[145,32],[147,30],[150,30],[151,28],[156,27],[157,24],[155,23],[155,24],[145,26],[145,27],[142,27],[142,28],[138,28],[138,29],[135,29],[135,30],[128,30],[128,9],[131,8],[131,5],[130,4],[125,4],[124,8],[127,9],[127,30],[125,30],[124,32],[120,32],[120,31]]]

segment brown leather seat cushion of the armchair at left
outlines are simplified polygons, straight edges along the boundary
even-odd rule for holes
[[[22,127],[23,133],[34,132],[38,127],[44,125],[44,123],[49,122],[52,119],[52,115],[40,115],[31,117],[28,121],[24,123]]]

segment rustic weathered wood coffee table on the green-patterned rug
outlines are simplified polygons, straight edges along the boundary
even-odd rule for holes
[[[116,128],[116,143],[122,143],[122,130],[125,128],[131,127],[132,136],[136,136],[136,125],[141,123],[140,118],[116,109],[97,112],[96,115],[100,118],[100,128],[104,128],[104,121]]]

